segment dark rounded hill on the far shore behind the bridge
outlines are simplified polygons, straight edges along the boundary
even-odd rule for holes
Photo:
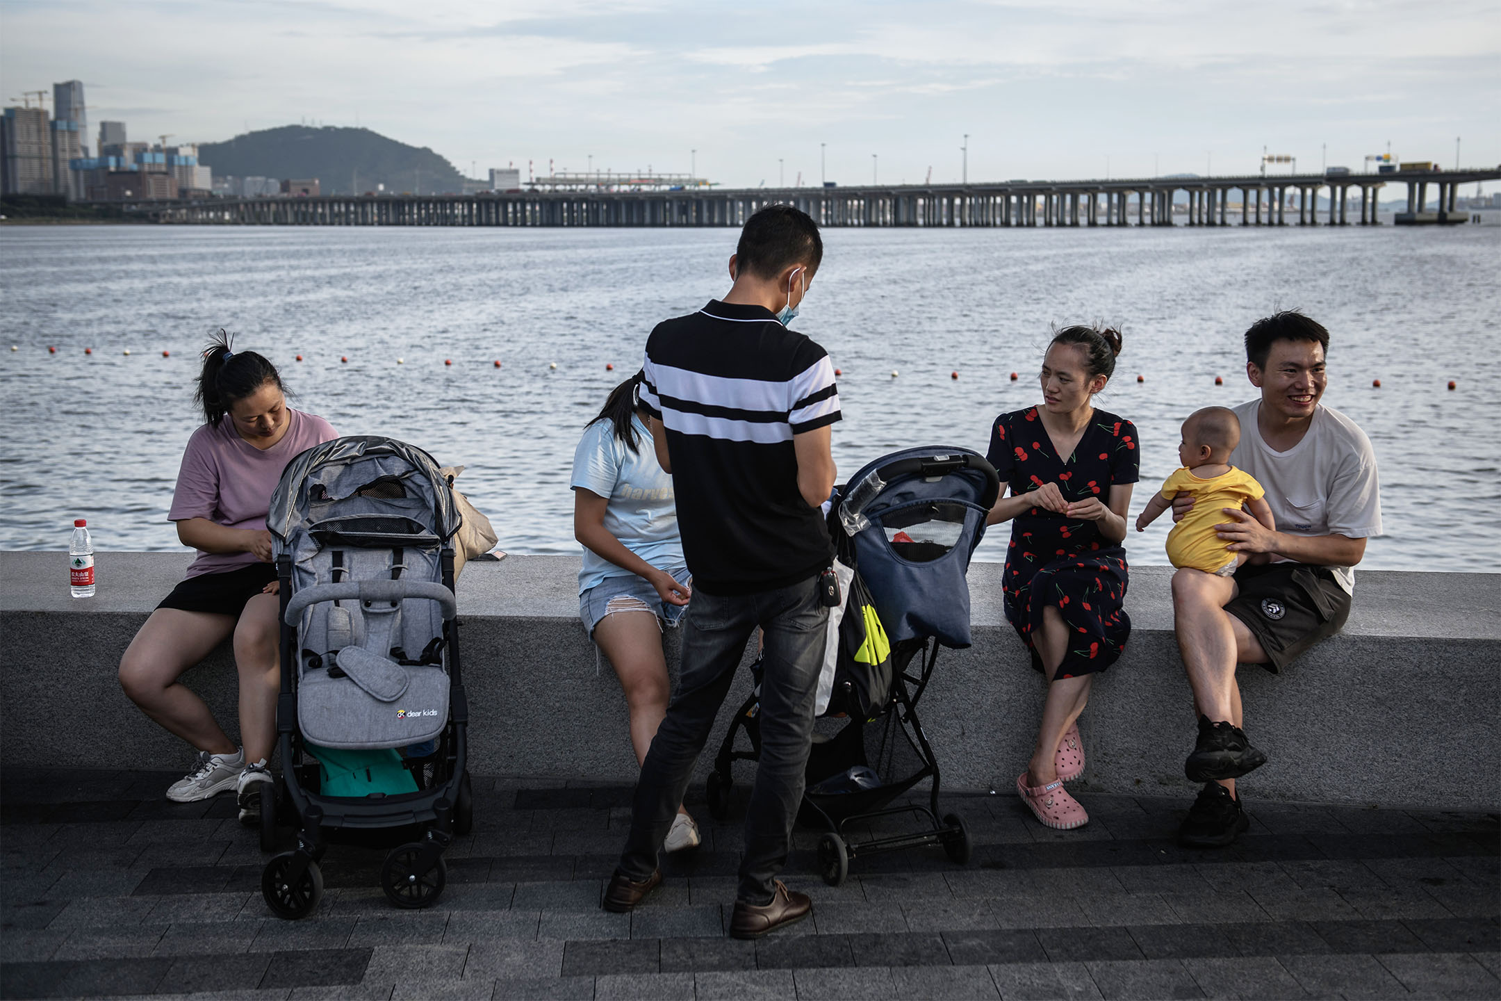
[[[375,191],[377,185],[425,195],[464,191],[462,176],[443,156],[369,129],[285,125],[246,132],[225,143],[200,143],[198,162],[215,176],[317,177],[326,195]]]

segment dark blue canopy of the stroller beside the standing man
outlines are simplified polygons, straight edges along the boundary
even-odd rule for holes
[[[893,452],[841,491],[839,524],[893,644],[934,636],[970,645],[965,573],[998,495],[995,468],[952,446]]]

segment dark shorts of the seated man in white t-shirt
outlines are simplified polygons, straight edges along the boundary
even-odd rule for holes
[[[1328,567],[1306,563],[1264,563],[1235,570],[1240,593],[1225,611],[1246,623],[1261,642],[1273,674],[1313,644],[1328,639],[1349,618],[1349,593]]]

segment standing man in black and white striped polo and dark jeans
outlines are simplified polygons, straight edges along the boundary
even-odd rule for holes
[[[723,300],[651,332],[641,404],[672,474],[693,600],[683,674],[636,785],[630,837],[605,908],[629,911],[662,882],[657,849],[760,626],[761,759],[746,813],[729,933],[758,938],[812,909],[776,875],[787,863],[814,732],[833,548],[820,504],[839,390],[829,354],[787,329],[823,260],[818,225],[791,206],[757,212],[729,258]]]

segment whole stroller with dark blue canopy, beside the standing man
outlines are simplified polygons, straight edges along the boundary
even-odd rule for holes
[[[860,855],[938,843],[953,861],[970,860],[964,819],[940,812],[938,759],[917,702],[932,678],[938,647],[971,642],[965,572],[998,495],[995,468],[958,447],[895,452],[835,492],[829,525],[847,603],[820,680],[818,732],[799,809],[803,825],[824,831],[818,867],[830,885],[844,882],[850,860]],[[872,632],[880,630],[889,656],[872,663],[880,654],[862,651],[880,645],[872,642]],[[716,819],[729,809],[734,762],[761,756],[758,693],[760,678],[734,714],[708,774],[708,810]],[[747,750],[735,746],[741,731]],[[928,777],[928,806],[892,806]],[[916,816],[919,830],[866,839],[853,833],[857,822],[902,815]]]

